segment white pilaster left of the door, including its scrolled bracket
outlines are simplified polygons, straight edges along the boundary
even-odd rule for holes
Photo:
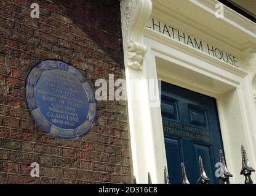
[[[146,46],[143,43],[143,28],[150,18],[151,10],[151,0],[121,0],[132,168],[137,183],[148,183],[148,172],[153,183],[164,181],[164,165],[159,166],[159,158],[156,155],[148,92],[148,80],[156,80],[157,77],[156,74],[151,76],[147,72],[147,66],[153,66],[153,63],[146,62]],[[162,160],[160,162],[162,163]],[[162,173],[159,177],[160,167]]]

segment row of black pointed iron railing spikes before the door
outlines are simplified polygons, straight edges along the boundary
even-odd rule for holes
[[[244,181],[245,184],[253,184],[253,181],[250,175],[255,170],[249,164],[246,149],[244,148],[244,146],[241,147],[241,154],[242,154],[242,170],[240,172],[240,175],[245,176],[245,181]],[[188,177],[186,175],[185,164],[183,162],[181,163],[181,167],[182,167],[182,184],[190,184],[190,181],[188,180]],[[200,175],[199,175],[197,184],[207,184],[210,181],[210,178],[208,178],[208,176],[206,175],[206,171],[204,170],[204,165],[203,165],[201,156],[199,156],[199,170],[200,170]],[[220,176],[218,177],[218,179],[221,180],[223,184],[230,184],[231,177],[233,177],[233,175],[231,175],[230,171],[228,171],[228,168],[226,167],[225,157],[223,155],[223,152],[220,150]],[[137,183],[136,178],[134,177],[134,184],[136,183]],[[152,184],[150,172],[148,172],[148,184]],[[164,184],[170,184],[166,167],[164,167]]]

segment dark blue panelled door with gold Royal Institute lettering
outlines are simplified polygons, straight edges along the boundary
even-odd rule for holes
[[[218,183],[215,163],[223,150],[216,100],[197,92],[162,82],[162,125],[170,183],[182,183],[181,162],[190,183],[199,177],[202,157],[210,183]]]

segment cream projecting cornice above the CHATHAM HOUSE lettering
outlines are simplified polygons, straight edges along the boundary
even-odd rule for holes
[[[170,4],[166,4],[167,2]],[[216,0],[190,0],[179,1],[179,4],[174,5],[172,1],[153,0],[153,15],[157,13],[156,15],[161,16],[160,19],[166,20],[168,17],[178,20],[183,24],[183,30],[186,28],[188,32],[196,32],[197,35],[206,37],[207,40],[212,40],[233,53],[241,53],[248,47],[252,50],[256,48],[255,23],[228,7],[225,7],[224,20],[218,20],[214,11],[217,3]],[[198,9],[195,9],[196,6]],[[203,21],[202,15],[210,22]]]

